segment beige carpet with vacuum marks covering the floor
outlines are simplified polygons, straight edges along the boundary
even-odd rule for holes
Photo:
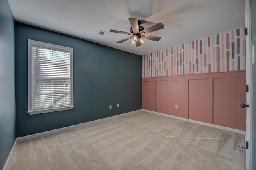
[[[136,111],[19,142],[8,170],[244,170],[244,135]]]

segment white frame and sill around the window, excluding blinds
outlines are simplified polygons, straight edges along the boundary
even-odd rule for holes
[[[70,105],[32,109],[32,47],[46,48],[70,53]],[[30,115],[73,109],[73,48],[28,39],[28,112]]]

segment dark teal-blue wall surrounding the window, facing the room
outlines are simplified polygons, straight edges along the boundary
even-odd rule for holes
[[[142,109],[140,55],[22,23],[16,23],[15,28],[17,137]],[[73,48],[74,109],[27,113],[28,39]]]

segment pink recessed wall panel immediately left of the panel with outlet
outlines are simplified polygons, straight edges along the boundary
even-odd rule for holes
[[[156,81],[156,112],[170,114],[169,88],[167,80]]]

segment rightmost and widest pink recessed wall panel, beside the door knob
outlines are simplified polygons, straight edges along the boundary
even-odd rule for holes
[[[240,78],[213,79],[213,96],[213,123],[245,130],[240,125]]]

